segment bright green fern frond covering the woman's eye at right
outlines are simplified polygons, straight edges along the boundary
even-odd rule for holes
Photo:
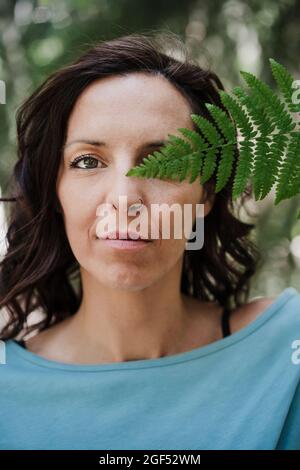
[[[215,192],[228,183],[234,168],[233,199],[251,180],[256,200],[275,185],[275,205],[300,193],[300,103],[293,100],[293,77],[269,59],[279,96],[253,74],[241,71],[247,84],[232,94],[219,91],[223,109],[206,103],[210,118],[191,114],[197,131],[179,128],[188,140],[169,134],[159,152],[147,156],[127,176],[185,180],[200,184],[215,175]],[[280,96],[282,95],[282,98]],[[300,211],[297,218],[300,218]]]

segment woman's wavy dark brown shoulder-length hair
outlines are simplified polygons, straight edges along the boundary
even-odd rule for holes
[[[166,44],[179,48],[184,57],[176,59],[165,52]],[[79,264],[66,236],[56,194],[68,118],[76,100],[94,80],[142,71],[165,76],[188,100],[191,112],[211,119],[205,103],[224,109],[218,92],[224,87],[214,72],[201,68],[188,55],[184,43],[171,33],[129,34],[103,41],[51,74],[18,108],[18,158],[8,194],[2,198],[9,210],[7,252],[0,263],[0,308],[6,313],[0,338],[42,331],[73,315],[81,303]],[[202,249],[185,251],[181,277],[183,293],[230,307],[246,302],[250,278],[260,259],[249,237],[254,224],[235,214],[233,174],[215,194],[205,218]],[[207,197],[214,192],[215,183],[213,176],[203,185]],[[251,191],[248,186],[240,208]],[[43,315],[30,324],[35,309],[41,309]]]

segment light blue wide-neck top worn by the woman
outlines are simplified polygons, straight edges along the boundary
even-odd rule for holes
[[[6,341],[0,448],[300,450],[297,340],[288,287],[236,333],[158,359],[64,364]]]

